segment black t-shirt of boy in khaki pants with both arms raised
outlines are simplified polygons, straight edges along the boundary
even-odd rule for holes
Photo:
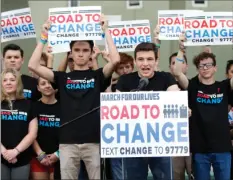
[[[111,83],[111,77],[106,79],[102,68],[95,71],[54,72],[54,80],[60,92],[61,124],[99,107],[100,92],[104,92]],[[99,142],[99,111],[91,112],[60,129],[62,144]]]

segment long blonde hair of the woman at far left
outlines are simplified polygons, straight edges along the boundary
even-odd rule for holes
[[[16,70],[14,69],[5,69],[2,71],[2,75],[1,75],[1,101],[4,101],[4,100],[7,100],[9,101],[9,96],[8,94],[6,93],[5,89],[3,88],[3,80],[4,80],[4,77],[7,73],[11,73],[15,78],[16,78],[16,82],[17,82],[17,89],[16,89],[16,92],[15,92],[15,97],[16,99],[24,99],[24,95],[23,95],[23,83],[22,83],[22,80],[21,80],[21,75],[19,74],[19,72],[17,72]]]

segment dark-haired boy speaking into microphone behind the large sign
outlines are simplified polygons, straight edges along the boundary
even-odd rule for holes
[[[148,78],[149,84],[142,91],[179,91],[170,73],[154,71],[157,68],[157,48],[153,43],[140,43],[134,51],[134,63],[138,71],[120,77],[117,92],[130,92],[137,89],[140,78]],[[170,157],[125,158],[127,179],[141,180],[148,175],[148,165],[155,180],[172,178]]]

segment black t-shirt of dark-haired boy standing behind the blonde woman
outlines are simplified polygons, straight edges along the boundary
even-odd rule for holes
[[[38,101],[41,98],[41,94],[37,89],[37,79],[24,74],[21,76],[21,79],[24,97],[32,101]]]

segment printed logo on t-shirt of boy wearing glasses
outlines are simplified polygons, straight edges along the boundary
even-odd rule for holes
[[[201,104],[220,104],[223,100],[223,93],[205,94],[202,91],[197,93],[197,102]]]

